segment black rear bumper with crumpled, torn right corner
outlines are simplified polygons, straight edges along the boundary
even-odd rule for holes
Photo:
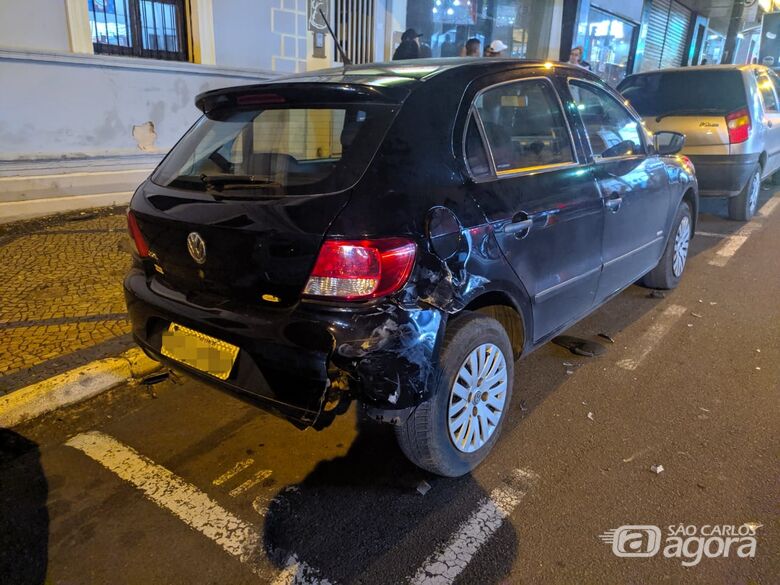
[[[353,398],[403,412],[428,398],[445,313],[432,307],[266,308],[188,299],[141,268],[124,281],[136,342],[154,359],[235,393],[299,427],[324,428]],[[226,380],[161,354],[175,322],[239,348]]]

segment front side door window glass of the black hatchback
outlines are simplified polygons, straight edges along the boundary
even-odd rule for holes
[[[593,155],[613,158],[645,152],[639,122],[605,90],[590,83],[569,84]]]

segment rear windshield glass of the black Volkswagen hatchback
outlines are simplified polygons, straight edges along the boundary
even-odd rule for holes
[[[152,181],[225,197],[340,191],[363,174],[394,114],[376,104],[209,112]]]

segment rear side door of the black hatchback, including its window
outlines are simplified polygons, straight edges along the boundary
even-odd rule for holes
[[[479,132],[489,162],[474,196],[531,299],[536,341],[593,306],[604,217],[599,192],[577,160],[549,79],[488,86],[473,103],[467,143]]]

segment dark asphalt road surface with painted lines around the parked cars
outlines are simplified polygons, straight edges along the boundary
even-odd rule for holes
[[[468,477],[355,409],[300,432],[187,379],[0,431],[0,583],[780,583],[778,203],[745,227],[706,202],[679,289],[569,332],[603,356],[523,359]],[[669,526],[746,523],[753,557],[663,554]],[[623,525],[661,552],[616,556],[599,535]]]

